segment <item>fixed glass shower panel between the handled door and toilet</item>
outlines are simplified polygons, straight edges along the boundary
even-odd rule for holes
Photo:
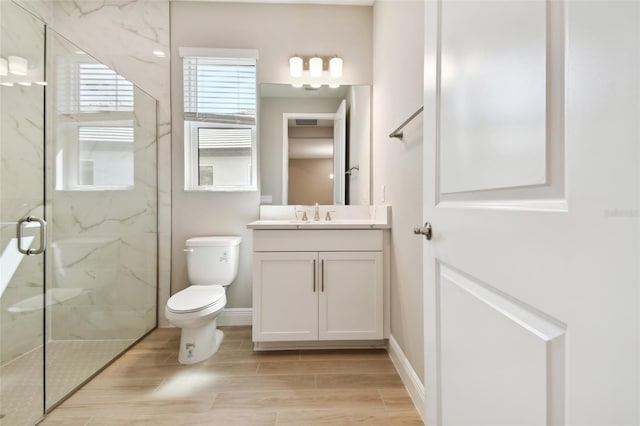
[[[156,100],[47,31],[45,408],[156,325]]]

